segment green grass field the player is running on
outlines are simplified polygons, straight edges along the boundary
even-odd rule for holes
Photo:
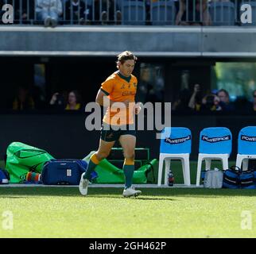
[[[173,172],[182,182],[179,164]],[[122,198],[121,188],[91,187],[83,197],[76,187],[1,187],[0,237],[256,237],[255,190],[141,190]],[[13,229],[5,227],[6,211]]]

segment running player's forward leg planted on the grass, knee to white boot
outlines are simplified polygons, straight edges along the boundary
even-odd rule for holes
[[[134,149],[136,145],[136,137],[134,135],[126,134],[121,135],[119,142],[122,145],[123,155],[125,161],[123,164],[123,173],[125,175],[125,190],[123,195],[125,197],[138,196],[141,194],[141,191],[135,191],[132,188],[132,181],[134,175]]]

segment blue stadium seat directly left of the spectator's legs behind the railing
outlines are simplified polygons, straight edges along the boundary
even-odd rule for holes
[[[152,25],[174,25],[175,15],[176,7],[173,0],[151,3]]]

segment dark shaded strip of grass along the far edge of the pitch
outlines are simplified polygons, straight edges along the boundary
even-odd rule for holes
[[[150,198],[161,196],[188,196],[190,198],[216,198],[223,196],[256,196],[256,190],[229,190],[229,189],[204,189],[204,188],[140,188],[142,197],[150,196]],[[104,197],[108,195],[120,195],[122,198],[122,188],[89,188],[88,197]],[[5,187],[0,189],[0,198],[6,197],[22,197],[22,196],[64,196],[79,197],[78,188],[74,187]],[[153,197],[152,197],[153,196]],[[141,197],[141,198],[142,198]],[[146,198],[148,199],[148,198]],[[156,198],[158,200],[159,198]],[[169,200],[169,198],[167,198]]]

